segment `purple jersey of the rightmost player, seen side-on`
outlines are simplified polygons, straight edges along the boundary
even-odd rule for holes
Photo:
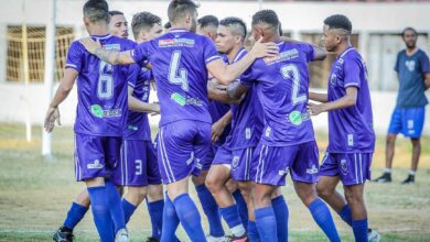
[[[329,112],[330,153],[372,153],[375,148],[372,102],[367,68],[358,52],[350,47],[333,63],[329,80],[329,101],[346,95],[347,87],[356,87],[357,101],[350,108]]]

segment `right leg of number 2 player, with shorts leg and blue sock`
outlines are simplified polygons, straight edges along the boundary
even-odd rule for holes
[[[314,141],[295,145],[290,166],[294,189],[330,241],[341,241],[329,207],[316,194],[319,154]]]

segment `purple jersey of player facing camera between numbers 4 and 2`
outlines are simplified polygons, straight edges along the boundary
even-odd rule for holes
[[[246,55],[245,48],[240,50],[232,63],[240,61]],[[232,150],[257,146],[262,130],[262,107],[258,100],[254,84],[244,82],[248,87],[244,99],[239,105],[232,105],[232,132],[227,138],[227,145]]]

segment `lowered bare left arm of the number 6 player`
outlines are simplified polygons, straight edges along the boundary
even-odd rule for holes
[[[77,78],[78,72],[74,68],[66,68],[64,70],[63,79],[60,82],[58,88],[55,91],[54,99],[51,101],[47,108],[44,128],[45,131],[51,133],[55,127],[55,122],[61,125],[58,106],[67,98],[68,94],[73,89],[73,85]]]

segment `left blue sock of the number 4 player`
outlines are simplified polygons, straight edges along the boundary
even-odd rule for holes
[[[165,193],[165,201],[163,208],[163,226],[160,242],[178,241],[175,232],[179,223],[180,219],[176,215],[176,210],[174,209],[174,205]]]

